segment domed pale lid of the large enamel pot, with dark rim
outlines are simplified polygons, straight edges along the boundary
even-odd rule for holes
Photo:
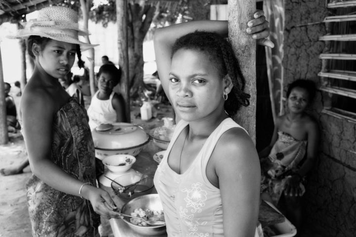
[[[93,129],[91,136],[94,147],[97,149],[125,149],[143,145],[149,140],[147,133],[139,126],[131,123],[113,123],[112,126],[105,126]]]

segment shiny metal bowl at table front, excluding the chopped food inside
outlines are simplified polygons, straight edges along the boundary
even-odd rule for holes
[[[147,194],[140,197],[136,197],[126,203],[122,208],[121,212],[124,214],[131,215],[134,209],[142,208],[143,210],[163,210],[161,199],[158,194]],[[160,226],[138,226],[130,222],[130,217],[125,217],[123,219],[129,227],[136,233],[144,236],[155,236],[162,235],[166,233],[166,225]]]

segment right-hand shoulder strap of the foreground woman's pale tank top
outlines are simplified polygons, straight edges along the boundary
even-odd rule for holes
[[[210,159],[210,156],[212,155],[213,150],[214,150],[216,144],[218,143],[220,137],[223,135],[223,133],[225,133],[227,130],[229,130],[231,128],[242,128],[247,133],[247,131],[243,127],[238,125],[231,118],[224,119],[223,122],[221,122],[221,124],[209,136],[209,138],[207,139],[207,141],[205,142],[205,144],[202,148],[203,152],[202,152],[201,159],[202,159],[203,166],[204,166],[203,170],[205,170],[206,165],[208,164],[208,161]]]

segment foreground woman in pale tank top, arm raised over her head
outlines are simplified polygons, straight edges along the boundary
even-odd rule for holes
[[[169,237],[256,234],[259,159],[246,131],[230,118],[250,95],[230,44],[211,32],[226,34],[227,22],[182,23],[155,33],[160,80],[181,119],[154,178]]]

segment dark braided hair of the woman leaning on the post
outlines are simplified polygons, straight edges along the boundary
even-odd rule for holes
[[[231,44],[223,37],[217,33],[195,31],[180,37],[175,42],[171,58],[179,49],[192,49],[206,53],[214,62],[221,78],[226,75],[230,76],[233,87],[224,103],[224,109],[230,117],[236,114],[241,105],[250,104],[250,95],[244,93],[246,83],[237,58]]]

